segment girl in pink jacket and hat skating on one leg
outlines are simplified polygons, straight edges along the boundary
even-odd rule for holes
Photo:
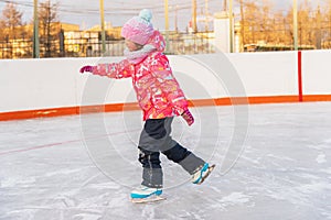
[[[166,44],[159,31],[150,23],[151,12],[142,10],[124,24],[126,59],[113,64],[84,66],[81,73],[109,78],[131,77],[138,103],[143,111],[145,125],[139,139],[139,162],[142,165],[141,186],[131,191],[132,199],[146,199],[162,194],[163,174],[160,153],[180,164],[192,175],[193,184],[202,184],[214,166],[181,146],[171,133],[174,116],[181,116],[189,125],[194,118],[188,109],[186,98],[172,75]]]

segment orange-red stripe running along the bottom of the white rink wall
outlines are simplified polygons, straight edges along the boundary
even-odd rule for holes
[[[300,77],[301,78],[301,77]],[[302,79],[299,86],[302,85]],[[300,89],[302,90],[302,86]],[[299,101],[331,101],[331,95],[302,95],[299,92]],[[257,105],[257,103],[290,103],[298,102],[298,96],[267,96],[267,97],[232,97],[232,98],[215,98],[215,99],[194,99],[190,100],[190,107],[211,107],[211,106],[235,106],[235,105]],[[0,121],[23,120],[33,118],[62,117],[83,113],[99,113],[99,112],[118,112],[139,110],[138,103],[110,103],[86,107],[65,107],[54,109],[36,109],[0,112]]]

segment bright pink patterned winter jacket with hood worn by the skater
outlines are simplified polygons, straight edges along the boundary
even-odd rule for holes
[[[164,40],[156,31],[148,44],[154,50],[141,57],[139,63],[124,59],[99,64],[93,68],[93,74],[116,79],[131,77],[143,120],[180,116],[188,109],[188,101],[162,53]]]

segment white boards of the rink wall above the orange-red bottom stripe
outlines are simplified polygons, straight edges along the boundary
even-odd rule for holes
[[[303,95],[331,95],[330,51],[302,52]],[[209,55],[192,57],[209,58]],[[298,95],[297,52],[226,54],[247,97]],[[226,87],[203,65],[184,56],[169,56],[173,73],[189,99],[229,97]],[[81,75],[83,65],[118,62],[108,58],[0,61],[0,112],[136,101],[130,79],[111,80]],[[226,72],[227,69],[221,69]],[[222,77],[221,77],[222,78]],[[87,99],[86,81],[100,99]],[[88,84],[89,85],[89,84]],[[106,88],[106,89],[105,89]],[[235,96],[235,95],[234,95]]]

